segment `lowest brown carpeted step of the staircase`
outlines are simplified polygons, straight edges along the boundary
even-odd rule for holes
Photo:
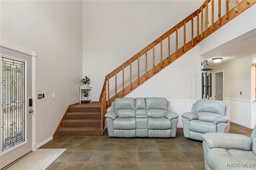
[[[100,128],[60,128],[58,136],[100,136]]]

